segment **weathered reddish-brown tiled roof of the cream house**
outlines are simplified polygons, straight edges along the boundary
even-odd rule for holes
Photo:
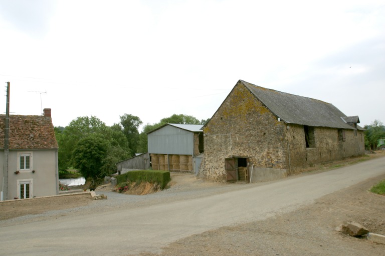
[[[6,115],[0,114],[0,148],[4,148]],[[58,148],[51,117],[10,115],[10,149]]]

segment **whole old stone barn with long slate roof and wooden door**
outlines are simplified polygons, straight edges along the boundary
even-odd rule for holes
[[[358,116],[324,101],[239,80],[203,127],[199,176],[267,181],[364,153]]]

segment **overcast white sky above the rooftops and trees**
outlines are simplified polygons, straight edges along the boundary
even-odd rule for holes
[[[383,0],[0,0],[0,59],[2,112],[9,81],[55,126],[207,119],[239,79],[385,122]]]

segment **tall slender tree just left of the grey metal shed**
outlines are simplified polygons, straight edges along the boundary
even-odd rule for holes
[[[120,116],[120,125],[123,131],[123,134],[126,136],[128,141],[128,146],[131,149],[131,154],[133,155],[137,152],[139,145],[139,131],[138,128],[143,122],[139,117],[132,114],[124,114]]]

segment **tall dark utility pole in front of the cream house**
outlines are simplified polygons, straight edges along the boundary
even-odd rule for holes
[[[4,175],[3,175],[3,191],[5,192],[5,199],[8,200],[8,154],[9,138],[10,138],[10,86],[7,82],[7,105],[6,105],[6,127],[4,131]],[[2,198],[3,199],[3,198]]]

